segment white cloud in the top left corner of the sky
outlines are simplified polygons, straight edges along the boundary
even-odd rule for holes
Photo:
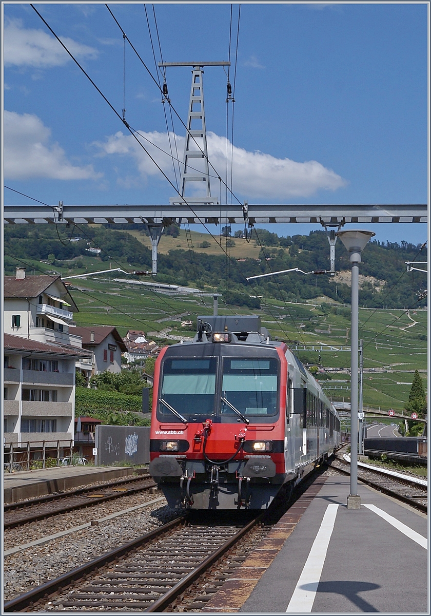
[[[76,43],[65,37],[60,39],[76,59],[95,59],[97,49]],[[44,30],[26,30],[20,20],[10,20],[3,31],[3,60],[7,66],[58,67],[71,60],[57,39]]]

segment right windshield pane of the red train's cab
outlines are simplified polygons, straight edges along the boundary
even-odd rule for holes
[[[259,421],[277,413],[278,365],[275,358],[234,358],[223,360],[222,397],[244,416]],[[222,401],[220,413],[235,415]]]

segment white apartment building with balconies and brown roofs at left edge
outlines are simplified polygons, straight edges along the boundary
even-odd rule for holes
[[[5,444],[73,439],[75,362],[92,368],[69,329],[76,311],[58,275],[4,277]]]

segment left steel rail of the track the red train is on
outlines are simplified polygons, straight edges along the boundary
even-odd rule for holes
[[[185,522],[187,516],[177,517],[175,520],[164,524],[158,529],[151,530],[151,532],[146,535],[142,535],[138,539],[133,541],[129,541],[119,548],[113,549],[107,554],[103,554],[98,558],[94,559],[94,561],[87,562],[81,567],[76,567],[71,571],[63,573],[60,577],[55,578],[54,580],[50,580],[50,582],[46,582],[37,588],[33,588],[33,590],[28,591],[28,593],[22,594],[15,599],[11,599],[4,604],[5,612],[20,612],[25,610],[27,607],[32,606],[35,602],[41,601],[46,596],[50,594],[57,593],[59,590],[64,588],[64,586],[68,586],[71,582],[76,582],[77,580],[83,578],[85,575],[93,572],[95,569],[99,569],[99,567],[104,567],[108,563],[115,561],[115,559],[124,556],[125,554],[131,552],[132,550],[139,548],[145,543],[150,543],[153,539],[156,539],[163,535],[165,532],[174,529],[177,526],[180,526]]]

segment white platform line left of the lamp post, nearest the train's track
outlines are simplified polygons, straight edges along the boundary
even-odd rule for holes
[[[286,612],[304,614],[312,610],[326,552],[328,551],[329,540],[331,540],[332,530],[334,530],[337,509],[338,505],[328,505],[324,513],[320,529],[312,549],[310,549],[307,562],[305,562],[304,569],[302,569]],[[307,588],[303,588],[304,586],[307,586]]]

